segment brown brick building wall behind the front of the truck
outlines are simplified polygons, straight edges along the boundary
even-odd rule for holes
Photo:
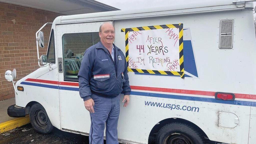
[[[0,100],[13,98],[12,82],[5,80],[5,71],[16,68],[15,81],[39,68],[37,64],[36,31],[45,23],[63,14],[0,2]],[[51,25],[44,29],[46,54]]]

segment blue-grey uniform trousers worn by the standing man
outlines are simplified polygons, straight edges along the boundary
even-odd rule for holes
[[[118,144],[117,125],[120,113],[120,95],[105,98],[92,95],[94,113],[90,113],[91,128],[90,144],[103,144],[104,128],[106,126],[106,144]]]

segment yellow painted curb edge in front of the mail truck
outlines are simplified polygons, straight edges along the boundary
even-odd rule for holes
[[[3,133],[8,130],[12,130],[14,128],[26,125],[30,122],[29,115],[22,118],[16,118],[13,120],[9,120],[0,124],[0,133]]]

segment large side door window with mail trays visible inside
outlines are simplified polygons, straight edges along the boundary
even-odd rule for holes
[[[71,33],[62,36],[65,81],[78,81],[84,51],[100,41],[99,33]]]

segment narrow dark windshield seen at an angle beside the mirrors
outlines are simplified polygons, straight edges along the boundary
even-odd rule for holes
[[[47,62],[55,64],[54,30],[51,30],[51,37],[47,51]]]

